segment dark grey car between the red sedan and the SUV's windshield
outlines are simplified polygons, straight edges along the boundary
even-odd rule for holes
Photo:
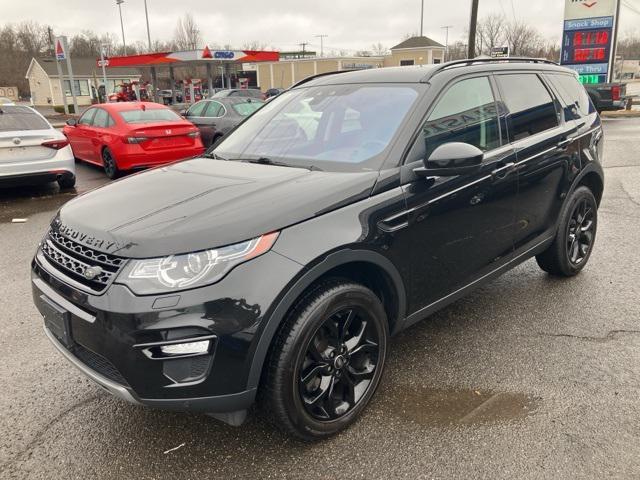
[[[222,97],[194,103],[182,115],[200,129],[202,143],[210,147],[262,105],[254,98]]]

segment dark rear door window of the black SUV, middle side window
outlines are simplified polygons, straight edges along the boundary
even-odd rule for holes
[[[558,126],[551,94],[534,73],[496,75],[509,110],[509,141],[522,140]]]

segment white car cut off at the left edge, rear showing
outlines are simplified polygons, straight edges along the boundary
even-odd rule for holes
[[[0,185],[54,181],[61,189],[76,183],[67,137],[33,108],[0,105]]]

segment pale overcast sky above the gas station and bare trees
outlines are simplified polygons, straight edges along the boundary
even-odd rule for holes
[[[191,12],[205,43],[241,47],[258,40],[278,49],[319,49],[316,34],[327,34],[326,49],[370,49],[380,42],[386,47],[420,28],[420,0],[147,0],[151,37],[168,40],[176,19]],[[452,25],[450,42],[461,38],[468,25],[470,0],[425,0],[424,33],[444,43],[443,25]],[[637,5],[640,0],[624,0]],[[624,5],[623,3],[623,5]],[[53,25],[66,35],[90,29],[111,32],[121,39],[115,0],[0,0],[0,24],[33,20]],[[556,39],[562,30],[563,0],[480,0],[480,17],[492,12],[525,20],[546,37]],[[122,5],[127,43],[146,42],[144,0],[125,0]],[[640,14],[626,6],[621,12],[622,30],[635,30]]]

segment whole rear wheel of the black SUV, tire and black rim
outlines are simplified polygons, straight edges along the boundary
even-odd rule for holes
[[[542,270],[572,277],[585,267],[593,251],[598,228],[598,204],[588,187],[578,187],[565,203],[556,238],[536,256]],[[578,232],[578,235],[575,234]]]

